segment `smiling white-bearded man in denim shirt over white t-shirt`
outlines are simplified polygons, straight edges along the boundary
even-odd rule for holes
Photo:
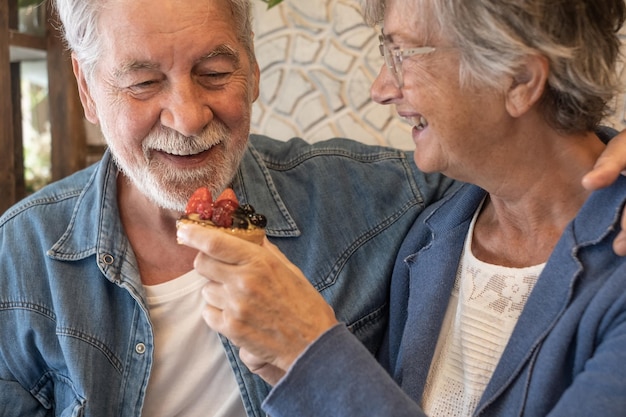
[[[264,213],[270,240],[376,350],[395,252],[454,182],[392,149],[249,137],[248,0],[55,6],[110,151],[0,219],[2,415],[263,415],[269,387],[204,325],[197,251],[176,242],[199,186]]]

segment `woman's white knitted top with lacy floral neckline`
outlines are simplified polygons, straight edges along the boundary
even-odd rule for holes
[[[472,415],[545,266],[509,268],[476,259],[471,244],[479,212],[465,240],[422,398],[432,417]]]

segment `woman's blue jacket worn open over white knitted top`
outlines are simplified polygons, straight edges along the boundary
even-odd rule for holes
[[[379,352],[384,367],[337,326],[272,391],[265,408],[273,417],[423,415],[417,403],[484,196],[464,185],[426,209],[409,232],[392,278],[390,326]],[[626,258],[612,250],[625,201],[621,177],[593,193],[569,224],[475,416],[626,414]]]

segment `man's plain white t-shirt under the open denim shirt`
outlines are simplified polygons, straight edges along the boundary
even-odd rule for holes
[[[205,283],[191,271],[145,286],[155,347],[144,417],[246,416],[218,334],[201,316]]]

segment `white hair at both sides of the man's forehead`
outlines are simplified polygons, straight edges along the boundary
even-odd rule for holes
[[[229,0],[229,3],[237,38],[246,49],[250,62],[255,62],[250,0]],[[53,0],[65,44],[82,64],[88,80],[93,77],[102,53],[98,18],[107,4],[108,0]]]

